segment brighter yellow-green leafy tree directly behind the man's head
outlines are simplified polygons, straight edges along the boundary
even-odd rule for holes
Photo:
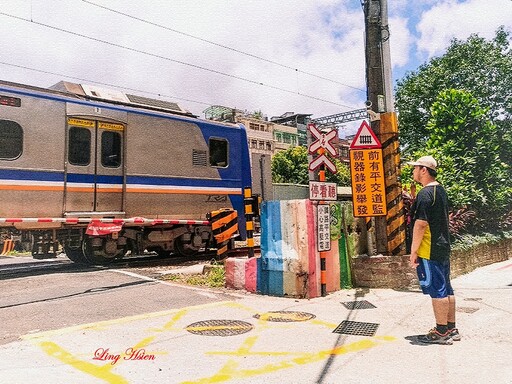
[[[499,158],[498,128],[488,109],[466,91],[442,91],[430,110],[425,149],[439,162],[438,180],[446,187],[451,204],[477,211],[486,228],[510,211],[510,165]]]

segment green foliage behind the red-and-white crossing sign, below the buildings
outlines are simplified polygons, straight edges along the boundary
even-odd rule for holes
[[[332,159],[336,173],[325,172],[326,180],[339,186],[350,185],[350,169],[339,159]],[[291,147],[276,153],[272,158],[272,182],[309,184],[308,150],[306,147]]]

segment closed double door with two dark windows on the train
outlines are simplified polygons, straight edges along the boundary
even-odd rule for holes
[[[65,210],[123,215],[124,125],[68,118]]]

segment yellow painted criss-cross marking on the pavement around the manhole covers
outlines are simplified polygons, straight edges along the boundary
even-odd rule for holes
[[[147,329],[146,332],[152,334],[140,340],[133,346],[133,349],[141,349],[153,343],[157,338],[158,334],[167,332],[167,331],[175,331],[182,332],[184,330],[212,330],[212,329],[246,329],[247,327],[233,325],[233,326],[201,326],[201,327],[181,327],[177,326],[177,323],[182,320],[186,315],[190,314],[192,311],[199,311],[208,308],[215,307],[231,307],[235,309],[240,309],[243,311],[249,312],[251,315],[257,314],[253,308],[239,304],[236,302],[226,301],[226,302],[218,302],[218,303],[209,303],[204,305],[198,305],[194,307],[186,307],[182,309],[174,309],[169,311],[155,312],[155,313],[147,313],[136,316],[129,316],[115,320],[107,320],[101,321],[97,323],[83,324],[74,327],[63,328],[60,330],[48,331],[48,332],[40,332],[37,334],[25,335],[22,338],[25,340],[31,340],[33,343],[38,345],[47,355],[58,359],[59,361],[81,371],[91,376],[97,377],[99,379],[104,380],[107,383],[115,383],[115,384],[124,384],[129,381],[121,375],[118,375],[112,372],[115,369],[116,365],[111,364],[111,362],[107,362],[104,365],[98,365],[86,361],[85,359],[78,358],[77,356],[83,356],[83,352],[80,354],[74,355],[73,353],[67,351],[63,347],[59,346],[55,342],[49,340],[51,337],[60,336],[76,331],[105,331],[108,330],[109,327],[119,325],[119,324],[127,324],[130,322],[143,321],[151,318],[157,317],[166,317],[171,316],[171,319],[165,323],[162,327],[150,328]],[[269,313],[269,315],[275,316],[276,313]],[[261,316],[261,315],[260,315]],[[305,364],[315,363],[321,360],[328,359],[333,355],[343,355],[347,353],[356,353],[359,351],[367,350],[370,348],[377,347],[384,342],[390,342],[396,340],[391,336],[381,336],[381,337],[373,337],[370,339],[360,340],[354,343],[350,343],[347,345],[341,345],[336,348],[320,350],[317,352],[301,352],[301,351],[256,351],[253,350],[254,345],[259,340],[262,332],[265,330],[282,326],[281,323],[273,323],[271,324],[268,321],[263,321],[261,318],[256,321],[257,327],[255,327],[256,335],[249,334],[240,345],[240,347],[234,351],[206,351],[205,355],[225,355],[231,356],[225,364],[215,373],[213,376],[204,377],[195,381],[185,381],[184,384],[206,384],[206,383],[220,383],[228,380],[235,379],[244,379],[258,375],[269,374],[272,372],[276,372],[282,369],[294,368]],[[310,324],[312,326],[323,326],[329,329],[334,329],[336,324],[328,323],[325,321],[321,321],[318,319],[310,320],[308,322],[301,322],[301,324]],[[286,323],[286,328],[290,327],[292,324]],[[282,327],[280,328],[282,329]],[[122,356],[125,356],[123,354]],[[272,363],[264,364],[257,368],[245,369],[241,368],[241,364],[249,356],[273,356],[273,357],[281,357],[283,360],[281,361],[272,361]],[[89,360],[92,357],[89,357]],[[119,359],[121,362],[123,359]]]

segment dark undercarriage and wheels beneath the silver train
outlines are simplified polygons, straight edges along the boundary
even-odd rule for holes
[[[63,251],[80,264],[109,264],[129,253],[146,251],[191,257],[216,248],[220,255],[238,234],[237,213],[223,209],[216,214],[209,221],[100,219],[89,220],[87,225],[80,219],[72,224],[56,219],[64,224],[52,229],[19,229],[12,223],[0,228],[0,240],[3,254],[31,252],[34,258],[48,258]]]

